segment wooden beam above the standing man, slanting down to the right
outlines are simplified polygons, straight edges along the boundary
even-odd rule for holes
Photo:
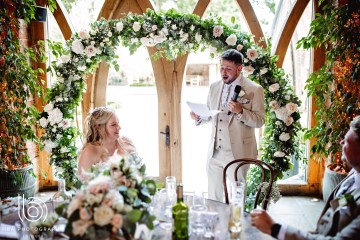
[[[262,46],[263,48],[266,48],[266,42],[261,41],[260,38],[264,37],[264,33],[261,29],[261,25],[259,23],[258,18],[256,17],[256,14],[254,12],[254,9],[250,3],[249,0],[237,0],[237,3],[240,7],[240,10],[242,14],[244,15],[246,22],[250,28],[250,32],[254,35],[255,42]]]

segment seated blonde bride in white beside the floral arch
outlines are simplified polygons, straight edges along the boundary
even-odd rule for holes
[[[86,118],[86,143],[81,149],[78,173],[88,171],[91,166],[110,157],[126,156],[136,153],[133,142],[120,137],[120,124],[115,111],[106,107],[95,108]]]

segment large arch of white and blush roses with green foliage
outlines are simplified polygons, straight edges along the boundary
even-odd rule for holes
[[[57,82],[48,90],[46,106],[39,125],[45,130],[43,148],[51,154],[50,163],[63,169],[68,185],[76,180],[79,130],[73,126],[76,107],[86,88],[85,77],[100,62],[112,63],[116,69],[115,48],[122,44],[135,52],[139,47],[155,47],[155,59],[169,60],[198,50],[210,49],[212,57],[224,49],[234,48],[244,55],[244,74],[265,90],[266,126],[262,140],[262,160],[270,163],[281,178],[292,168],[291,157],[299,156],[298,131],[301,130],[298,106],[284,71],[277,67],[276,56],[268,48],[258,46],[253,37],[222,23],[221,18],[200,19],[194,14],[175,10],[156,13],[147,10],[142,15],[128,14],[118,20],[101,19],[91,24],[90,31],[75,33],[63,46],[49,44],[58,58],[51,64]]]

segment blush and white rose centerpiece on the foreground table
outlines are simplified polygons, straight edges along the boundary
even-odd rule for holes
[[[68,220],[65,234],[71,239],[136,239],[148,234],[143,231],[154,228],[155,216],[147,205],[156,185],[145,177],[145,169],[133,157],[94,165],[70,203],[56,209]]]

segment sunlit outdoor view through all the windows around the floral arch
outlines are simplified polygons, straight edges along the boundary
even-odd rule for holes
[[[69,16],[72,23],[76,24],[74,25],[76,31],[89,28],[89,23],[96,20],[103,3],[103,1],[95,0],[64,2],[67,2],[68,6],[72,6]],[[196,0],[152,1],[155,9],[167,10],[173,7],[186,13],[192,12],[196,2]],[[295,1],[252,0],[251,2],[260,20],[264,35],[272,37],[275,42],[279,37],[278,34],[286,20],[287,13]],[[283,64],[297,96],[302,100],[301,121],[303,127],[307,127],[308,123],[309,104],[304,85],[311,71],[311,62],[310,52],[296,49],[296,42],[308,33],[313,11],[311,6],[312,4],[309,3],[297,25]],[[238,24],[240,31],[249,32],[246,21],[234,0],[211,1],[204,18],[211,16],[220,16],[223,22],[231,25],[230,19],[234,16],[235,24]],[[49,29],[54,29],[49,32],[50,38],[64,41],[59,30],[56,31],[55,21],[52,19],[48,24],[51,24]],[[119,46],[117,51],[120,70],[110,69],[106,96],[107,106],[116,110],[120,119],[120,134],[130,137],[134,141],[139,155],[147,166],[147,174],[157,177],[159,176],[159,141],[165,141],[165,137],[159,135],[159,132],[163,132],[165,129],[158,127],[158,98],[150,61],[151,56],[145,47],[133,55],[130,55],[129,50],[122,46]],[[186,173],[183,175],[183,183],[187,192],[207,191],[205,166],[211,124],[196,127],[189,116],[190,109],[186,105],[186,101],[206,103],[210,84],[220,79],[218,58],[210,58],[207,51],[189,55],[181,96],[182,166],[183,173]],[[52,81],[56,81],[56,79],[52,79]],[[79,127],[81,128],[81,126]],[[257,131],[257,140],[258,143],[261,143],[261,131]],[[303,149],[303,157],[307,158],[305,144]],[[306,181],[306,165],[297,160],[294,159],[294,169],[289,176],[285,177],[287,180],[281,181],[282,183]]]

